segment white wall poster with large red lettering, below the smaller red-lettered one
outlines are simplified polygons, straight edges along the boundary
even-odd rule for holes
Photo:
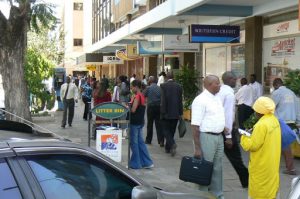
[[[300,68],[300,37],[264,41],[264,84],[272,87],[275,78],[284,78],[289,70]]]

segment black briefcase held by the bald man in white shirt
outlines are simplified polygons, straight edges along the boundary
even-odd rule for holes
[[[213,163],[202,159],[184,156],[181,160],[179,179],[199,185],[210,185]]]

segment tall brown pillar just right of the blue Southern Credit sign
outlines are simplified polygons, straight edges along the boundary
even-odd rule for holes
[[[257,81],[262,82],[262,43],[263,17],[255,16],[245,21],[245,68],[246,77],[256,74]]]

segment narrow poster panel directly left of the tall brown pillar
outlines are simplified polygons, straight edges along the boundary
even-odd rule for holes
[[[231,70],[238,78],[245,77],[245,45],[231,46]]]

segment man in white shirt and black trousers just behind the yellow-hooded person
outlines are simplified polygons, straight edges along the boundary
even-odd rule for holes
[[[242,78],[242,87],[235,94],[238,105],[239,128],[241,129],[245,129],[243,124],[253,113],[252,105],[254,103],[254,91],[247,83],[247,79]]]

